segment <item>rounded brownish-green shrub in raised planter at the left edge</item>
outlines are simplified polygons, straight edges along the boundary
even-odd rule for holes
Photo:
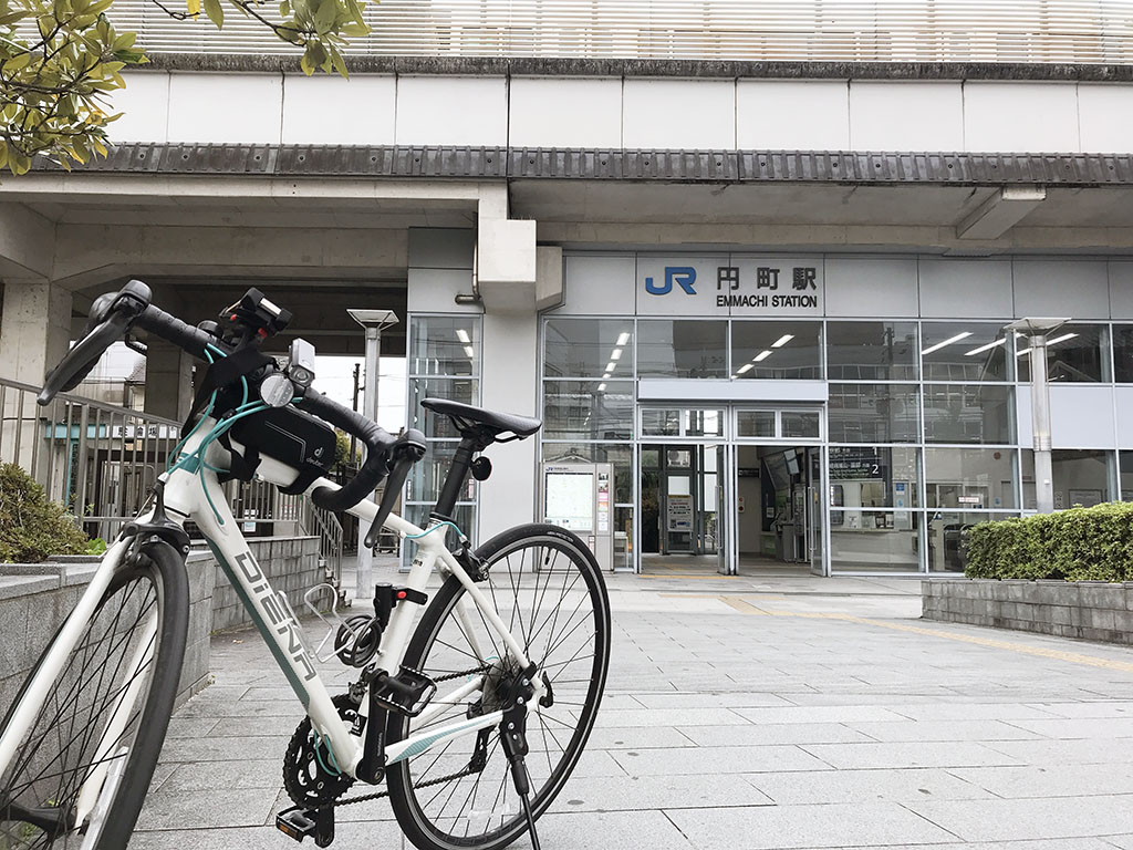
[[[15,464],[0,465],[0,562],[35,563],[87,551],[86,535],[61,504]]]

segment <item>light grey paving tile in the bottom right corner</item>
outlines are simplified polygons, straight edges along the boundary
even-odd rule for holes
[[[1133,794],[1048,800],[964,800],[909,804],[964,841],[1063,839],[1133,832]]]

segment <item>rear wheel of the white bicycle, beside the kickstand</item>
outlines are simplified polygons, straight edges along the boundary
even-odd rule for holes
[[[602,700],[610,665],[606,587],[590,551],[557,526],[513,528],[485,543],[477,555],[488,575],[479,588],[546,682],[543,700],[533,700],[527,715],[527,768],[538,817],[578,764]],[[390,741],[497,711],[509,678],[520,674],[501,637],[467,597],[457,578],[442,585],[414,632],[404,663],[440,682],[432,705],[472,677],[483,677],[483,687],[441,706],[424,723],[391,715]],[[510,844],[527,830],[511,782],[497,728],[450,739],[387,771],[393,811],[420,850]]]

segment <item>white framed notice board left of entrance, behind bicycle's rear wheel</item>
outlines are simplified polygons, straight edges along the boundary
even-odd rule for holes
[[[590,547],[598,566],[614,568],[613,464],[544,464],[542,520],[569,528]]]

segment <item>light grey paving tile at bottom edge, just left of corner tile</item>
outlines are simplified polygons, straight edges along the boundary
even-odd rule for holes
[[[952,833],[891,802],[681,809],[667,814],[699,850],[910,847],[955,841]]]

